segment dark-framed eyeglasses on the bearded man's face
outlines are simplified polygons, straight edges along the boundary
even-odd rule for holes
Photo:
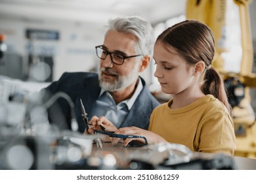
[[[108,52],[108,50],[104,49],[102,45],[100,46],[95,46],[96,48],[96,55],[98,56],[98,58],[100,59],[106,59],[106,57],[108,55],[110,55],[110,59],[113,63],[116,63],[117,65],[122,65],[123,62],[125,61],[125,59],[127,58],[134,58],[137,56],[142,56],[140,55],[136,55],[136,56],[124,56],[122,54],[119,54],[117,52]]]

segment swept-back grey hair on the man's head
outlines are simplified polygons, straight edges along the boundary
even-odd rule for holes
[[[108,27],[114,31],[121,33],[131,33],[138,39],[137,54],[143,56],[153,56],[153,49],[155,43],[154,31],[152,25],[139,16],[128,16],[114,18],[108,21]]]

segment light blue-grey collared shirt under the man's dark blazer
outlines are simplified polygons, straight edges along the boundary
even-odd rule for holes
[[[89,115],[89,120],[91,120],[93,116],[105,116],[108,120],[110,120],[110,122],[119,128],[125,120],[129,110],[131,110],[131,107],[133,107],[133,104],[139,96],[142,88],[142,82],[139,78],[139,83],[135,93],[133,93],[133,96],[130,99],[121,101],[121,103],[118,103],[117,105],[112,95],[108,91],[101,89],[100,95],[98,96],[98,99],[91,110],[92,112],[90,112],[91,115]]]

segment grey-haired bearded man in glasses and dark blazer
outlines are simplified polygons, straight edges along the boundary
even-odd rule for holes
[[[153,46],[153,29],[142,18],[131,16],[110,20],[103,44],[95,46],[96,56],[100,58],[98,75],[64,73],[46,90],[52,94],[64,92],[70,96],[81,133],[85,131],[85,125],[80,99],[89,119],[105,116],[117,128],[136,126],[148,129],[150,114],[160,103],[151,95],[139,73],[148,67]],[[68,101],[63,98],[57,101],[67,127],[71,128],[72,112]],[[56,107],[51,108],[50,118]]]

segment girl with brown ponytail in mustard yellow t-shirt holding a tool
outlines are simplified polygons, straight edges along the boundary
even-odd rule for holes
[[[154,109],[148,131],[138,127],[116,129],[103,116],[94,116],[90,123],[102,124],[117,134],[144,136],[149,144],[179,143],[196,152],[233,155],[234,124],[223,81],[211,66],[214,54],[213,33],[207,25],[186,20],[167,28],[154,46],[154,76],[161,90],[172,94],[173,99]],[[132,140],[126,139],[123,144]],[[118,141],[114,139],[114,143]]]

